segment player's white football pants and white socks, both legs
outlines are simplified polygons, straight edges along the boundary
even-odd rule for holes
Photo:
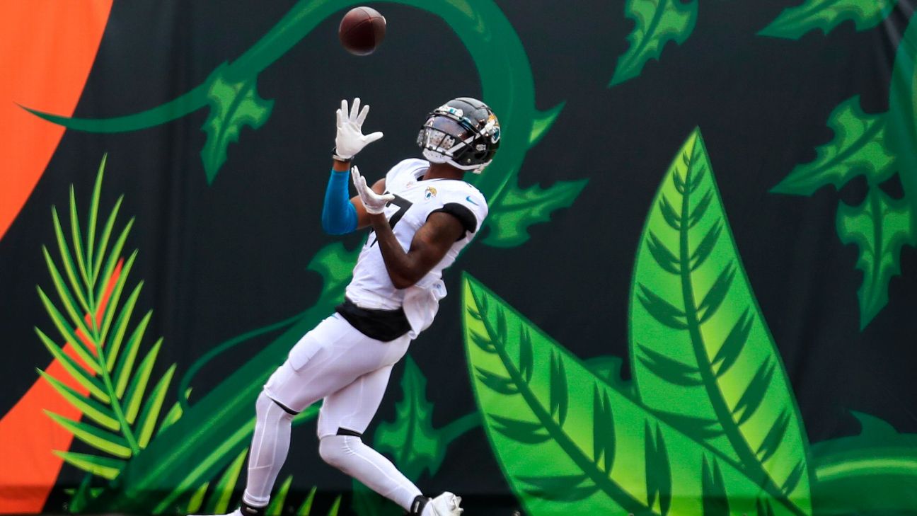
[[[337,313],[296,342],[255,404],[257,422],[245,502],[263,507],[271,498],[290,449],[293,414],[284,408],[300,412],[324,398],[318,416],[321,457],[409,510],[420,489],[353,433],[366,432],[385,394],[392,365],[410,342],[407,335],[390,342],[370,339]]]

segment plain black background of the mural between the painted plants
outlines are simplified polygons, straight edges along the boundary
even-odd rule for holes
[[[826,121],[840,103],[860,95],[867,113],[888,110],[894,51],[910,13],[899,8],[886,25],[864,32],[846,22],[827,36],[814,31],[793,41],[756,33],[798,0],[700,0],[697,26],[683,45],[668,44],[660,62],[647,62],[640,76],[609,88],[633,28],[622,2],[497,3],[525,46],[536,106],[567,102],[526,155],[520,185],[590,181],[570,208],[532,226],[525,244],[497,249],[479,237],[447,272],[452,295],[410,352],[428,379],[435,426],[476,409],[461,342],[461,270],[581,358],[613,354],[626,364],[639,234],[668,164],[699,126],[810,441],[858,432],[850,409],[917,432],[917,252],[903,249],[888,306],[859,331],[858,250],[839,241],[834,218],[839,199],[861,202],[865,182],[840,192],[824,187],[812,197],[768,193],[834,138]],[[181,95],[248,50],[292,5],[116,2],[74,116],[125,115]],[[360,155],[361,171],[375,178],[419,154],[414,136],[430,108],[481,95],[469,54],[441,19],[405,6],[372,6],[388,19],[386,39],[373,55],[358,58],[339,47],[335,16],[260,74],[260,95],[275,100],[271,118],[257,131],[242,130],[213,185],[199,156],[206,109],[152,129],[65,134],[0,241],[0,318],[9,350],[0,365],[0,413],[34,383],[35,367],[50,363],[32,330],[50,328],[35,293],[36,285],[52,288],[40,252],[42,244],[54,245],[50,206],[66,211],[74,184],[84,210],[105,152],[102,207],[123,193],[122,213],[137,218],[127,249],[139,250],[131,277],[146,282],[138,307],[155,310],[148,334],[165,340],[157,371],[177,363],[181,377],[217,343],[315,302],[321,279],[305,266],[337,240],[322,233],[319,214],[339,99],[361,96],[372,106],[366,128],[385,132]],[[897,179],[883,187],[901,196]],[[359,240],[343,239],[349,249]],[[263,342],[243,344],[204,367],[193,381],[194,396]],[[376,422],[393,420],[402,370],[396,368]],[[170,393],[167,403],[173,399]],[[314,484],[323,492],[348,489],[348,478],[319,460],[316,444],[312,424],[295,429],[282,477],[293,473],[300,492]],[[80,478],[65,466],[59,484]],[[441,471],[420,487],[470,495],[471,508],[513,505],[508,495],[484,496],[509,491],[480,428],[453,443]],[[60,508],[61,499],[53,497],[49,510]]]

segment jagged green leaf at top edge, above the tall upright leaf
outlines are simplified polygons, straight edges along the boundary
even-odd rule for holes
[[[618,59],[609,86],[633,79],[651,59],[658,61],[668,41],[684,43],[697,23],[697,0],[627,0],[624,16],[635,21],[630,48]]]

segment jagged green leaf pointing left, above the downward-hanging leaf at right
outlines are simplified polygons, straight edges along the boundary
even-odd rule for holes
[[[797,165],[771,192],[811,196],[824,185],[840,189],[859,174],[878,185],[895,172],[885,115],[864,113],[858,95],[834,108],[828,127],[834,129],[834,140],[817,149],[815,161]]]

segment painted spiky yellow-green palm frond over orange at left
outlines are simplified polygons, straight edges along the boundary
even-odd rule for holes
[[[127,287],[138,255],[134,251],[124,259],[134,219],[118,226],[121,196],[100,227],[104,175],[105,157],[95,177],[85,226],[80,225],[72,185],[69,228],[57,208],[51,208],[57,249],[42,247],[42,253],[53,290],[37,288],[54,331],[36,327],[35,332],[72,382],[41,370],[39,375],[83,414],[78,421],[50,411],[49,417],[100,454],[54,453],[72,466],[111,479],[149,443],[175,365],[153,377],[162,339],[144,346],[152,310],[137,318],[134,310],[143,282]]]

